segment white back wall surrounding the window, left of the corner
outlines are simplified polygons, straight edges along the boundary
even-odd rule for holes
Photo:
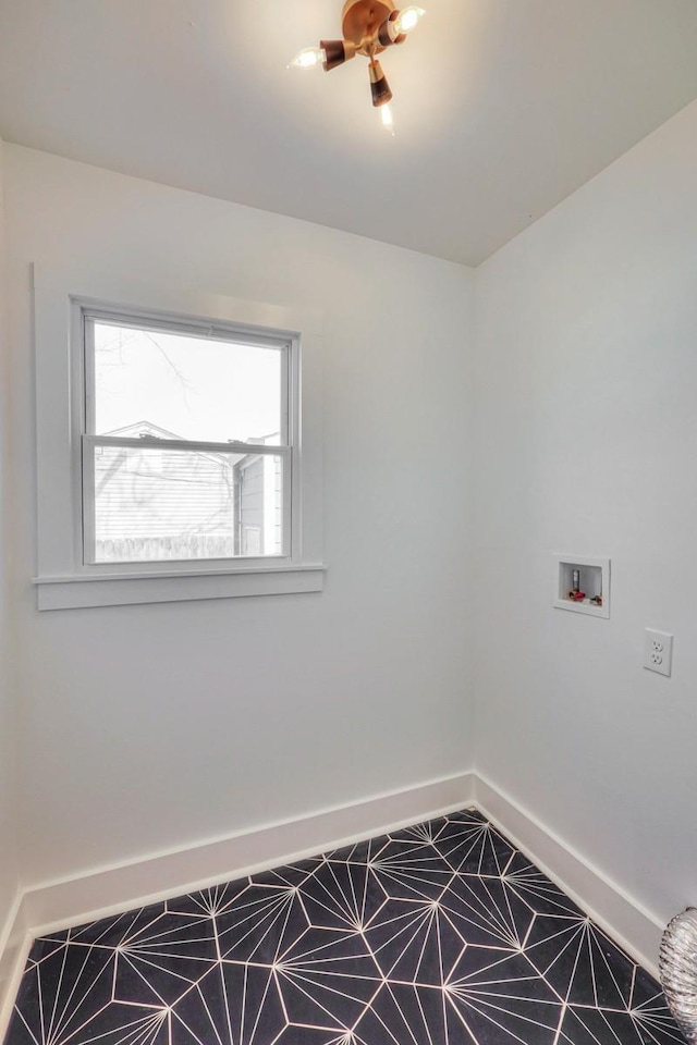
[[[468,769],[470,272],[14,146],[7,199],[25,884]],[[321,595],[37,613],[28,266],[69,258],[325,312]]]

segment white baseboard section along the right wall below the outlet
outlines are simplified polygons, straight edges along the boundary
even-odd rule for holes
[[[664,926],[615,882],[479,774],[475,806],[533,862],[658,980],[658,950]]]

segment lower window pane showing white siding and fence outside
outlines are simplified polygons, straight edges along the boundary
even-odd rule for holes
[[[283,554],[283,460],[97,446],[95,562]]]

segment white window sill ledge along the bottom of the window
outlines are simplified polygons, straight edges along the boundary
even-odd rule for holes
[[[35,577],[39,610],[133,606],[242,595],[288,595],[321,591],[326,566],[273,566],[262,569],[183,573],[74,574]]]

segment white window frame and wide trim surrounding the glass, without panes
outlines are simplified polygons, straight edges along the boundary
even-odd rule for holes
[[[34,583],[38,608],[321,591],[320,317],[192,288],[115,282],[105,285],[84,274],[39,273],[34,267],[38,562]],[[86,364],[85,316],[159,323],[160,329],[198,336],[232,340],[246,334],[288,346],[283,506],[288,529],[282,555],[162,563],[85,561],[83,450],[90,444],[86,432],[86,366],[90,362]],[[142,440],[137,442],[143,445]],[[169,445],[162,440],[154,443],[159,448]],[[206,447],[210,448],[209,444]],[[245,444],[244,450],[248,452],[249,446]]]

